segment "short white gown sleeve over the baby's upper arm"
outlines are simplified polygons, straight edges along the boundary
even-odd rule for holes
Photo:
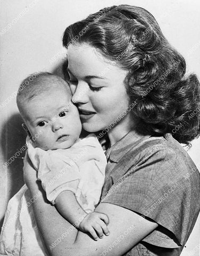
[[[70,157],[62,157],[57,150],[45,151],[32,145],[28,146],[28,154],[49,202],[55,204],[55,198],[64,190],[76,193],[80,172]]]

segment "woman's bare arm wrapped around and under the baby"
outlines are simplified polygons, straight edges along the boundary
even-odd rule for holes
[[[94,241],[87,234],[77,231],[47,202],[41,183],[36,181],[36,171],[27,161],[24,163],[24,179],[31,197],[38,195],[38,191],[42,195],[33,207],[41,236],[52,256],[99,256],[104,251],[107,256],[123,255],[158,226],[123,207],[101,203],[95,211],[108,215],[110,235]]]

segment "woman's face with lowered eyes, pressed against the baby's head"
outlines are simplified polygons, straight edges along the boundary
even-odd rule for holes
[[[126,125],[130,112],[129,97],[124,85],[128,71],[109,62],[88,44],[70,45],[68,73],[72,101],[76,103],[82,127],[97,132],[116,125]],[[118,119],[117,119],[118,118]],[[113,125],[112,123],[112,125]]]

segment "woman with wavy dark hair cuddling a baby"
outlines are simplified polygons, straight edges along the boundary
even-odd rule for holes
[[[184,58],[140,7],[91,14],[66,28],[63,45],[82,126],[107,142],[95,211],[108,215],[110,235],[94,241],[63,219],[26,158],[31,196],[43,195],[34,210],[49,254],[180,255],[200,209],[199,173],[178,143],[199,135],[196,76],[185,77]]]

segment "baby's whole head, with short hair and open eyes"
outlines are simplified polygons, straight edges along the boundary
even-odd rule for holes
[[[69,85],[50,73],[31,77],[24,79],[20,89],[25,81],[29,84],[18,90],[16,97],[23,128],[30,138],[35,137],[34,142],[41,149],[71,147],[79,138],[81,122],[78,109],[71,102]]]

